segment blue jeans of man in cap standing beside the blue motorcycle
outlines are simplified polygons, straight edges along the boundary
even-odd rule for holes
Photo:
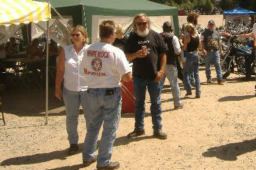
[[[207,52],[204,61],[206,78],[211,78],[211,64],[213,63],[217,73],[217,79],[222,79],[221,58],[219,57],[219,51]]]

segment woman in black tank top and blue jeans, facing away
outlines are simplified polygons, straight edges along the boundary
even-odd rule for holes
[[[196,27],[189,23],[186,25],[185,30],[189,35],[185,36],[185,44],[183,50],[187,50],[187,59],[184,68],[184,84],[188,95],[192,95],[190,74],[194,72],[194,79],[196,85],[196,98],[200,98],[200,79],[199,79],[199,58],[198,58],[198,47],[201,46],[199,36],[196,34]]]

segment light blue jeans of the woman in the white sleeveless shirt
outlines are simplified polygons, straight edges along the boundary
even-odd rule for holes
[[[78,117],[79,106],[83,107],[84,115],[88,107],[87,91],[76,92],[63,87],[63,100],[66,106],[66,131],[68,132],[69,144],[78,143]]]

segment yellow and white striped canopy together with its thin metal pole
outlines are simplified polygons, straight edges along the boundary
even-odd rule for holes
[[[20,24],[38,23],[46,21],[46,120],[48,124],[48,52],[49,52],[49,19],[51,19],[51,5],[46,2],[31,0],[1,0],[0,1],[0,44],[10,38]]]

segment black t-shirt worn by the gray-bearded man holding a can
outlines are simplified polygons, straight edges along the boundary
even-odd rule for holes
[[[125,52],[135,53],[141,50],[141,46],[147,47],[148,55],[132,61],[132,74],[144,80],[154,80],[157,71],[160,70],[160,54],[166,52],[168,48],[162,36],[150,30],[146,37],[138,36],[135,32],[130,33]]]

